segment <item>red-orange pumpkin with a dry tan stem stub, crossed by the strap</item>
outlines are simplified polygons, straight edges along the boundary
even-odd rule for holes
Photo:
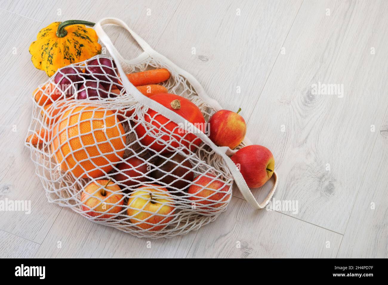
[[[184,117],[184,119],[194,124],[194,126],[200,130],[204,130],[205,119],[201,110],[199,110],[199,108],[190,100],[170,93],[155,94],[149,98]],[[189,147],[193,149],[195,145],[199,145],[202,142],[196,135],[189,133],[182,128],[178,128],[176,123],[158,114],[154,110],[148,109],[144,115],[144,119],[147,123],[152,124],[152,126],[155,126],[156,128],[152,128],[149,124],[140,123],[136,126],[135,131],[142,145],[148,146],[156,152],[161,152],[166,145],[169,147],[164,149],[161,152],[162,154],[174,151],[173,148],[177,148],[181,145],[184,145],[187,149]],[[147,131],[150,131],[152,135],[145,135]],[[158,140],[156,140],[156,138],[158,138]]]

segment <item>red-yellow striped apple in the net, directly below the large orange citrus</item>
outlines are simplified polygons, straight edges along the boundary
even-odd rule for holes
[[[88,184],[81,194],[82,210],[91,217],[107,219],[123,208],[123,194],[117,184],[110,180],[96,180]],[[114,204],[114,205],[113,205]],[[106,214],[104,214],[106,213]]]

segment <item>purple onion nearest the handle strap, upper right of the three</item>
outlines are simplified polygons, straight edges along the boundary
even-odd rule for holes
[[[115,83],[117,88],[121,90],[122,87],[118,84],[118,79],[116,78],[117,75],[113,70],[115,64],[112,60],[100,57],[99,59],[90,60],[87,64],[87,73],[92,74],[95,78],[99,80],[113,82]],[[107,82],[102,82],[102,85],[109,89],[109,85],[111,85],[111,83]]]

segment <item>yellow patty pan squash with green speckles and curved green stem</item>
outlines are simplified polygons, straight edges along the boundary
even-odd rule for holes
[[[92,28],[94,23],[79,20],[53,22],[39,31],[29,46],[34,66],[54,75],[57,69],[90,59],[101,53],[101,45]]]

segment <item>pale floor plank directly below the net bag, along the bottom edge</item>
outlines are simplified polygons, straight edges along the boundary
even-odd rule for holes
[[[36,257],[184,258],[196,233],[170,239],[138,238],[93,223],[66,208],[55,221]]]

